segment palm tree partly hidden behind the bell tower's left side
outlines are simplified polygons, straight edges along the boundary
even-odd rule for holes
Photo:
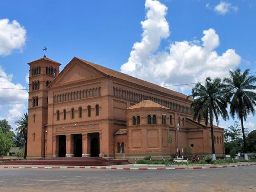
[[[20,117],[19,120],[17,120],[14,123],[16,127],[16,132],[18,136],[21,136],[25,139],[25,152],[24,152],[24,159],[27,156],[27,136],[28,136],[28,114],[24,113],[23,116]]]

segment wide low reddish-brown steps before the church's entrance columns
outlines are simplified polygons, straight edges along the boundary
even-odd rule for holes
[[[109,166],[130,164],[128,160],[107,160],[99,157],[92,158],[47,158],[37,160],[13,160],[0,163],[1,165],[52,165],[52,166]]]

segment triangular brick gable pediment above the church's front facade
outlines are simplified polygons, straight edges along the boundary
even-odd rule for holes
[[[53,80],[48,88],[72,82],[95,79],[104,75],[105,74],[98,71],[96,68],[74,58],[65,66],[62,72]]]

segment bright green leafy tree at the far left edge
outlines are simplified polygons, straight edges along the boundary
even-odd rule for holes
[[[4,133],[0,129],[0,157],[6,155],[13,146],[12,136],[12,132]]]

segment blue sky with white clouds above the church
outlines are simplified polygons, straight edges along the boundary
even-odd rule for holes
[[[255,34],[255,0],[1,0],[0,87],[28,88],[44,46],[61,69],[76,56],[162,86],[256,72]],[[26,109],[25,90],[0,89],[0,119],[13,125]]]

